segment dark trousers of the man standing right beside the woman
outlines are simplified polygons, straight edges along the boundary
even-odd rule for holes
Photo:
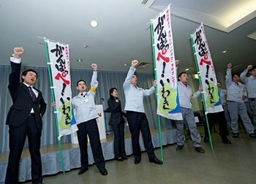
[[[144,146],[148,153],[148,158],[154,158],[154,146],[152,144],[151,133],[148,126],[148,119],[143,112],[127,111],[127,121],[129,131],[132,134],[132,151],[135,158],[141,158],[140,152],[140,131],[142,133]]]

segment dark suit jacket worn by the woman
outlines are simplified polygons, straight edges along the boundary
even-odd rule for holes
[[[125,123],[124,117],[126,117],[126,114],[121,111],[121,101],[120,100],[118,100],[118,102],[116,102],[115,99],[108,99],[108,107],[111,112],[109,125],[118,125],[119,123]]]

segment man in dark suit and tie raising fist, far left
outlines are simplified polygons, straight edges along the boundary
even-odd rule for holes
[[[29,140],[31,155],[32,183],[42,183],[42,163],[40,142],[42,134],[42,115],[45,114],[46,104],[42,93],[33,85],[37,81],[37,72],[28,69],[22,73],[20,83],[20,55],[22,47],[14,48],[14,55],[10,58],[12,72],[9,77],[8,89],[12,97],[12,107],[7,115],[9,126],[10,153],[7,166],[6,184],[18,183],[20,156],[26,137]]]

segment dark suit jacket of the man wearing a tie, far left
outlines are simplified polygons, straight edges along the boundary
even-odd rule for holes
[[[29,88],[20,83],[20,66],[21,64],[15,64],[11,62],[12,72],[9,77],[8,89],[12,96],[12,106],[7,115],[7,125],[20,126],[28,118],[31,109],[34,109],[35,123],[38,129],[42,129],[42,115],[45,114],[46,104],[42,98],[42,93],[38,89],[34,88],[38,92],[37,99],[32,100]]]

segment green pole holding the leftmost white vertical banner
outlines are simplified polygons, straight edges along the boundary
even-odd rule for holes
[[[48,45],[47,45],[46,41],[45,41],[45,54],[46,54],[46,61],[48,63],[48,77],[50,80],[50,87],[53,87],[53,79],[52,79],[51,69],[50,69],[50,64],[49,64],[50,60],[49,60],[49,55],[48,55]],[[53,88],[50,88],[50,94],[51,94],[51,100],[55,101]],[[56,107],[53,107],[53,116],[54,116],[54,120],[55,120],[55,124],[56,124],[56,134],[57,134],[58,143],[59,143],[59,154],[61,156],[61,167],[62,167],[63,174],[65,174],[65,164],[64,164],[64,157],[63,157],[62,147],[61,147],[61,138],[59,137],[59,124],[58,124],[58,118],[57,118],[57,115],[55,112],[56,112]]]

